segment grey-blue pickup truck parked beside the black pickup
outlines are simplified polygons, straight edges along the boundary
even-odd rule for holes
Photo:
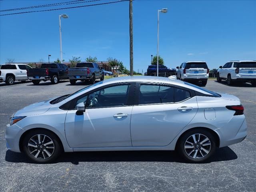
[[[91,84],[95,83],[96,79],[104,80],[104,72],[98,64],[92,62],[82,62],[76,64],[76,67],[68,69],[68,78],[70,84],[76,84],[77,80],[89,81]]]

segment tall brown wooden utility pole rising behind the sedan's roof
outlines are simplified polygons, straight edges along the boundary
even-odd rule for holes
[[[133,76],[132,0],[130,0],[129,18],[130,18],[130,76]]]

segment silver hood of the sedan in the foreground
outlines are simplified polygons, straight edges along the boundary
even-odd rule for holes
[[[50,104],[50,101],[52,99],[54,99],[54,98],[26,106],[26,107],[18,110],[13,116],[18,117],[18,116],[32,116],[32,115],[43,114],[51,108],[52,104]]]

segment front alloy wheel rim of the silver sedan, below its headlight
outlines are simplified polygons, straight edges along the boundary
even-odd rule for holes
[[[44,160],[52,156],[54,143],[50,137],[37,134],[28,141],[28,151],[34,158]]]

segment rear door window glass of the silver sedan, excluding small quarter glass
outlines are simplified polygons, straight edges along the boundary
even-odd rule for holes
[[[172,103],[174,88],[162,85],[140,85],[139,104]]]

